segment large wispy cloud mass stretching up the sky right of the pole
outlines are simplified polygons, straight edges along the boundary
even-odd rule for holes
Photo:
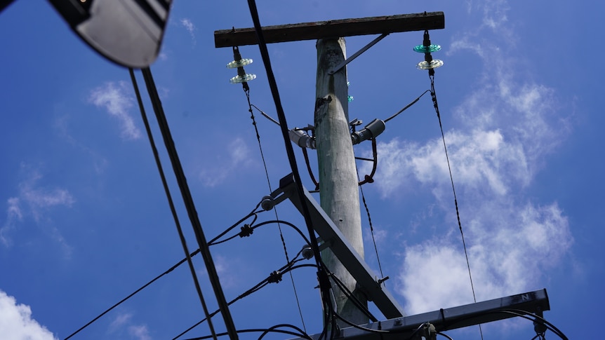
[[[561,112],[552,88],[517,71],[507,2],[477,6],[481,11],[470,4],[470,13],[483,18],[481,26],[453,41],[449,54],[477,53],[484,72],[472,93],[450,110],[460,127],[448,130],[445,125],[445,140],[474,287],[481,300],[535,288],[547,268],[569,251],[573,237],[556,202],[535,203],[525,196],[545,156],[569,135],[566,118],[571,114]],[[481,29],[499,34],[504,45],[480,41]],[[422,144],[381,142],[378,153],[375,185],[383,197],[429,189],[442,223],[448,225],[434,231],[438,238],[410,245],[402,254],[398,291],[405,297],[406,310],[420,313],[471,303],[441,138]]]

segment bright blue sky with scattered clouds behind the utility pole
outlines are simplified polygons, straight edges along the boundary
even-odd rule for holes
[[[551,311],[545,318],[570,337],[594,336],[605,302],[602,7],[504,0],[258,1],[263,25],[444,11],[446,28],[431,32],[432,42],[442,46],[433,57],[445,63],[437,69],[435,89],[477,299],[546,288]],[[213,43],[216,29],[252,25],[246,1],[178,1],[152,65],[208,239],[270,192],[246,97],[228,82],[234,76],[225,68],[232,50]],[[182,259],[182,248],[127,70],[82,43],[45,1],[16,1],[0,14],[0,32],[0,334],[64,339]],[[347,38],[347,55],[371,39]],[[422,32],[391,34],[348,66],[350,118],[385,119],[430,87],[426,72],[415,69],[423,58],[412,50],[419,43]],[[312,123],[314,41],[272,44],[269,51],[288,124]],[[250,82],[251,102],[277,118],[258,47],[242,46],[241,54],[254,60],[246,71],[258,75]],[[277,125],[255,116],[275,189],[290,172],[284,143]],[[159,142],[159,130],[152,128]],[[302,154],[295,151],[311,188]],[[471,303],[430,97],[387,123],[378,151],[375,182],[364,193],[380,263],[390,276],[387,288],[408,314]],[[366,142],[355,152],[368,156],[371,147]],[[314,151],[310,155],[315,166]],[[360,163],[359,171],[367,173],[368,165]],[[168,179],[193,250],[178,188]],[[278,213],[304,227],[289,203],[278,205]],[[273,218],[261,214],[259,221]],[[365,212],[361,219],[366,262],[378,272]],[[292,257],[304,241],[282,229]],[[274,225],[211,252],[227,300],[286,263]],[[201,258],[194,263],[214,309],[204,264]],[[314,276],[311,268],[293,271],[310,334],[321,332]],[[231,311],[239,329],[303,327],[288,276]],[[201,318],[191,274],[181,266],[73,339],[172,339]],[[222,329],[220,317],[215,327]],[[493,322],[483,332],[485,339],[535,335],[526,320]],[[182,339],[206,334],[204,325]],[[448,334],[480,339],[477,327]]]

